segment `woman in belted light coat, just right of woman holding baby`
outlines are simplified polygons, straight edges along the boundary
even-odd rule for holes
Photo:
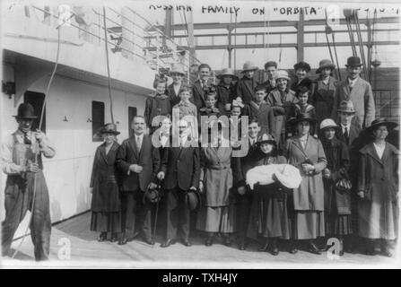
[[[301,171],[301,186],[293,189],[292,254],[298,251],[300,239],[308,240],[308,250],[320,254],[315,239],[325,236],[324,187],[321,171],[327,166],[322,143],[309,132],[316,119],[301,114],[292,119],[297,135],[288,139],[286,154],[290,164]]]

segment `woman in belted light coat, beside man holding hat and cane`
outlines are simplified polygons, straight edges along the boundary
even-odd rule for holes
[[[196,228],[207,232],[206,246],[211,246],[216,233],[221,232],[224,244],[231,246],[230,234],[235,231],[235,204],[232,194],[232,148],[222,143],[222,133],[212,146],[201,153],[199,189],[205,203],[197,214]],[[213,135],[213,133],[212,133]],[[213,147],[216,146],[216,147]]]

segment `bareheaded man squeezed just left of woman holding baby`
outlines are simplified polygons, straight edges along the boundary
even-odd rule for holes
[[[251,120],[248,124],[248,153],[242,158],[234,158],[235,169],[233,178],[234,186],[238,191],[237,204],[237,222],[238,235],[240,239],[239,248],[245,250],[247,248],[247,230],[249,222],[250,205],[252,203],[252,194],[246,184],[246,174],[250,169],[249,159],[251,154],[257,147],[257,135],[260,132],[260,126],[257,120]]]

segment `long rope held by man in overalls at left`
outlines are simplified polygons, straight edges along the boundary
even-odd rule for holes
[[[46,107],[46,101],[48,99],[51,83],[53,82],[54,76],[55,76],[56,71],[57,71],[59,53],[60,53],[60,26],[57,27],[57,54],[56,54],[55,66],[53,68],[53,72],[51,73],[50,79],[48,80],[48,87],[46,88],[45,99],[43,100],[42,110],[41,110],[41,113],[40,113],[40,120],[39,120],[39,126],[38,126],[39,130],[42,129],[43,117],[44,117],[45,107]],[[38,156],[39,156],[39,149],[37,148],[36,151],[35,151],[35,163],[38,163]],[[34,213],[34,207],[35,207],[35,198],[36,198],[36,173],[34,174],[34,178],[33,178],[32,204],[31,204],[31,215],[30,215],[30,219],[29,219],[29,224],[27,225],[27,227],[25,229],[25,232],[23,233],[22,240],[20,241],[20,244],[18,245],[17,248],[15,248],[15,251],[13,253],[12,258],[14,258],[18,254],[18,252],[20,252],[20,249],[22,247],[23,241],[28,236],[28,230],[31,227],[31,222],[32,222],[32,219],[33,219],[33,213]]]

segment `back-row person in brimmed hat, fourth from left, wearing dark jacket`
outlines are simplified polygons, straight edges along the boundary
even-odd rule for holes
[[[241,72],[243,77],[237,84],[237,97],[240,97],[247,105],[250,104],[251,100],[256,100],[254,90],[259,83],[254,77],[255,71],[257,71],[257,66],[253,62],[245,62]]]

